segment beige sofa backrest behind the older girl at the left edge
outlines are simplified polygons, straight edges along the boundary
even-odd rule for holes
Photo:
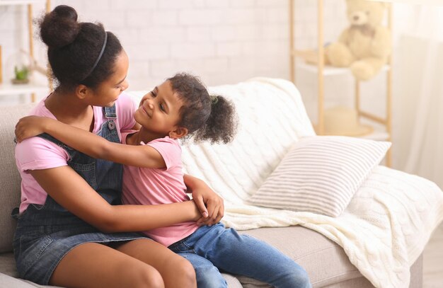
[[[11,210],[20,204],[20,175],[14,156],[14,127],[21,117],[27,115],[35,104],[16,105],[1,108],[0,121],[0,253],[12,251],[12,238],[16,220],[11,217]]]

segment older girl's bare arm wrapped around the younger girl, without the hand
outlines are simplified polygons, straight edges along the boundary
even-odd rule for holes
[[[165,205],[110,205],[69,166],[30,173],[57,203],[101,231],[146,231],[201,217],[193,201]]]

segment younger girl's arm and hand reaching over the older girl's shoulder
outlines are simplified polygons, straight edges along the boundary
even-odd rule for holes
[[[159,151],[151,146],[109,142],[84,129],[72,127],[51,118],[26,116],[21,118],[16,125],[18,142],[42,133],[50,134],[64,144],[93,158],[146,168],[166,166]]]

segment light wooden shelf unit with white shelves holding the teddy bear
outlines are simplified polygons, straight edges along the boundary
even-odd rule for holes
[[[295,0],[289,0],[289,71],[291,81],[295,83],[295,69],[296,60],[300,54],[303,54],[301,50],[295,48],[295,36],[294,36],[294,11],[295,11]],[[392,28],[392,8],[391,4],[387,7],[387,25],[389,30]],[[316,124],[316,132],[319,135],[324,134],[324,101],[325,101],[325,88],[324,88],[324,78],[326,76],[334,76],[350,73],[347,68],[337,68],[325,65],[325,51],[323,47],[324,35],[323,35],[323,0],[317,0],[317,55],[316,55],[316,65],[312,64],[297,64],[297,68],[303,69],[310,73],[317,74],[318,81],[318,119]],[[392,120],[391,120],[391,108],[392,108],[392,56],[389,57],[387,64],[384,66],[381,72],[386,73],[386,113],[385,117],[379,117],[372,113],[368,113],[363,110],[360,103],[360,83],[355,80],[355,110],[357,110],[357,115],[360,118],[365,118],[366,120],[376,122],[382,125],[386,131],[380,132],[375,131],[372,134],[364,135],[362,138],[374,139],[374,140],[384,140],[391,141],[392,132]],[[386,166],[391,166],[392,156],[391,149],[386,153]]]

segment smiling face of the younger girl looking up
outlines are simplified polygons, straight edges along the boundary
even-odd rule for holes
[[[180,108],[183,102],[172,90],[171,83],[165,81],[143,96],[134,119],[142,125],[140,132],[147,132],[152,139],[169,136],[183,137],[180,122]]]

